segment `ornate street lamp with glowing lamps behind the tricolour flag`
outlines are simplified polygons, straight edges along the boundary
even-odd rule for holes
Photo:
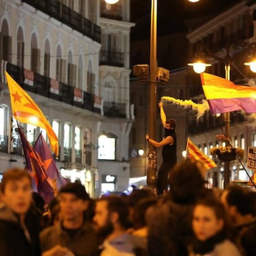
[[[225,65],[225,79],[226,80],[230,80],[230,63],[231,60],[234,59],[234,57],[231,57],[229,54],[229,48],[231,46],[229,46],[229,48],[225,51],[225,55],[223,58],[220,58],[219,56],[216,56],[215,54],[211,53],[210,50],[205,46],[202,45],[203,49],[205,49],[208,54],[211,56],[211,58],[215,59],[216,61],[222,61],[224,62]],[[250,49],[254,49],[255,48],[255,43],[251,43],[249,46],[247,46],[247,48],[245,48],[244,50],[248,51]],[[239,54],[239,57],[241,56],[241,54],[244,53],[244,51],[242,50]],[[198,62],[195,62],[193,64],[188,64],[189,66],[193,66],[193,69],[195,72],[198,72],[198,66],[197,66]],[[205,64],[205,63],[200,63],[201,64],[201,70],[205,70],[205,67],[207,66],[211,66],[210,64]],[[256,61],[252,61],[252,62],[246,62],[244,63],[247,66],[250,66],[250,70],[252,70],[253,72],[256,72]],[[255,70],[255,71],[254,71]],[[199,70],[200,71],[200,70]],[[203,72],[203,71],[202,71]],[[225,129],[225,135],[226,138],[229,140],[230,139],[230,113],[224,113],[224,129]],[[229,176],[230,176],[230,168],[229,168],[229,161],[224,161],[224,188],[229,186]]]

